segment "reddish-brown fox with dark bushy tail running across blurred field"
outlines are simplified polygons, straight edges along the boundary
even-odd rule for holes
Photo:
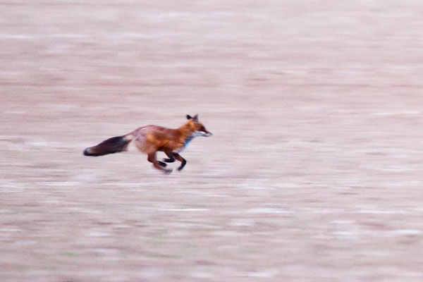
[[[187,164],[180,152],[187,147],[192,138],[197,136],[211,136],[212,133],[204,128],[204,125],[198,121],[198,115],[194,117],[187,115],[188,121],[180,128],[163,128],[157,125],[147,125],[137,128],[131,133],[123,136],[111,137],[104,140],[99,145],[88,147],[84,150],[85,156],[103,156],[105,154],[114,154],[128,150],[130,142],[134,142],[140,152],[148,155],[147,160],[153,163],[153,166],[164,173],[171,173],[172,170],[165,168],[166,163],[172,163],[177,159],[180,161],[178,171]],[[157,152],[164,152],[168,159],[157,160]]]

